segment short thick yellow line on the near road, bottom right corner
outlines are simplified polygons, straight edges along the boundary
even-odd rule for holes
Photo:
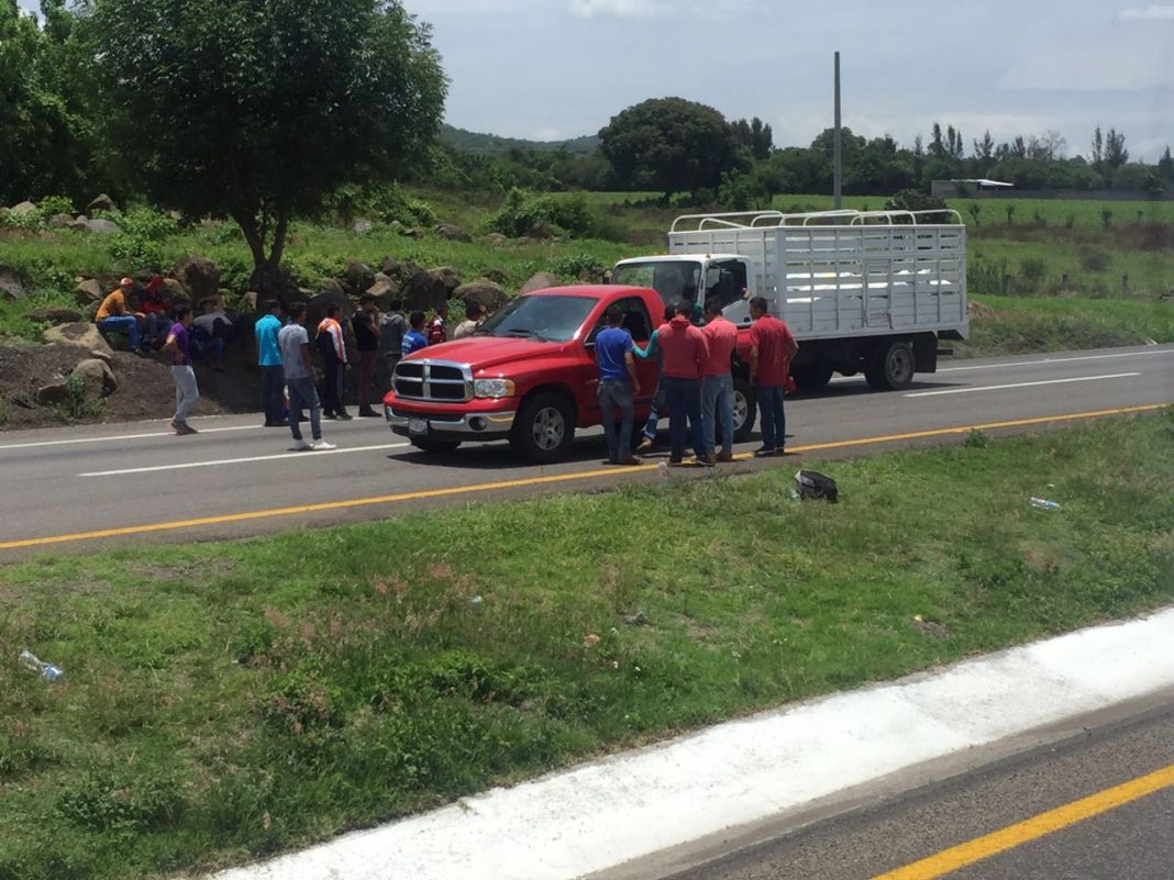
[[[888,874],[878,874],[872,880],[933,880],[967,865],[973,865],[976,861],[1023,846],[1045,834],[1115,810],[1172,785],[1174,785],[1174,764],[1148,776],[1097,792],[1081,800],[1050,810],[1046,813],[1033,815],[1018,825],[1011,825],[1001,831],[943,849],[936,855],[890,871]]]

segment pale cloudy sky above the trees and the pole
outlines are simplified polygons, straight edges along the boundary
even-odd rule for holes
[[[35,0],[20,0],[32,7]],[[760,116],[776,145],[844,123],[911,144],[935,120],[967,149],[1052,129],[1067,154],[1093,127],[1134,157],[1174,145],[1174,2],[1148,0],[404,0],[433,27],[447,121],[558,140],[648,97]]]

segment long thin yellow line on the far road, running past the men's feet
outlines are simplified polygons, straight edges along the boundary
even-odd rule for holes
[[[1131,413],[1153,412],[1163,409],[1166,404],[1149,404],[1146,406],[1128,406],[1118,409],[1097,409],[1094,412],[1068,413],[1065,415],[1041,415],[1031,419],[1014,419],[1011,421],[991,421],[980,425],[963,425],[952,428],[933,428],[931,431],[913,431],[904,434],[883,434],[879,436],[863,436],[853,440],[832,440],[823,444],[809,444],[807,446],[795,446],[790,451],[822,452],[828,449],[842,449],[853,446],[871,446],[873,444],[886,444],[899,440],[918,440],[933,436],[949,436],[952,434],[967,434],[971,431],[994,431],[998,428],[1025,427],[1028,425],[1045,425],[1048,422],[1077,421],[1081,419],[1097,419],[1106,415],[1127,415]],[[751,453],[742,453],[736,459],[751,459]],[[626,468],[622,473],[641,473],[655,471],[660,465],[640,465]],[[303,514],[324,513],[328,510],[345,510],[358,507],[371,507],[375,505],[398,505],[406,501],[424,501],[427,499],[451,497],[453,495],[471,495],[475,493],[500,492],[504,489],[517,489],[533,486],[551,486],[560,482],[573,482],[579,480],[592,480],[600,476],[615,476],[615,468],[602,468],[594,471],[578,471],[569,474],[554,474],[549,476],[526,476],[517,480],[501,480],[497,482],[471,483],[466,486],[450,486],[443,489],[424,489],[420,492],[405,492],[396,495],[376,495],[373,497],[346,499],[343,501],[324,501],[316,505],[298,505],[296,507],[277,507],[269,510],[247,510],[235,514],[217,514],[216,516],[201,516],[193,520],[173,520],[168,522],[149,522],[141,526],[126,526],[119,528],[99,529],[95,532],[74,532],[65,535],[47,535],[45,537],[28,537],[16,541],[0,541],[0,550],[16,550],[28,547],[48,547],[52,544],[73,543],[76,541],[94,541],[103,537],[124,537],[128,535],[146,535],[153,532],[175,532],[177,529],[197,528],[200,526],[223,526],[231,522],[245,522],[248,520],[268,520],[278,516],[298,516]]]

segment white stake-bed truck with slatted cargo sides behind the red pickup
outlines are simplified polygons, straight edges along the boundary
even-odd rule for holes
[[[620,260],[612,282],[653,287],[666,304],[716,297],[740,329],[750,326],[747,300],[765,297],[799,343],[791,375],[801,388],[823,387],[834,372],[909,387],[913,373],[937,370],[940,340],[969,331],[957,211],[686,215],[668,246]]]

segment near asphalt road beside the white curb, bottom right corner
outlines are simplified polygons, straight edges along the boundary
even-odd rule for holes
[[[1125,720],[720,855],[672,880],[1169,880],[1170,696]]]

